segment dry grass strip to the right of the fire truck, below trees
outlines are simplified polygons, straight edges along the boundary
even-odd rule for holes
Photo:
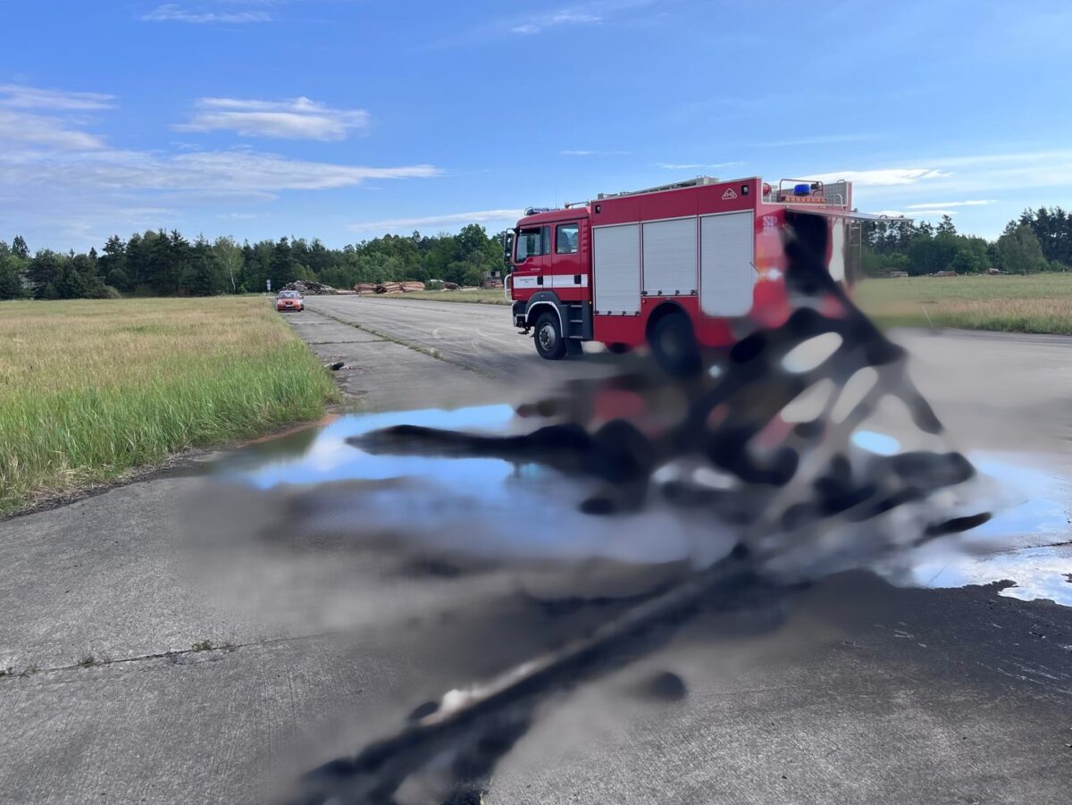
[[[1072,274],[865,280],[857,301],[880,324],[1072,334]]]

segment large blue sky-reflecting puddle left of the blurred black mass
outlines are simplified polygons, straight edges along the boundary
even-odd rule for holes
[[[631,516],[624,530],[615,518],[585,515],[579,507],[591,485],[536,464],[372,454],[346,442],[396,424],[507,433],[517,423],[508,405],[347,416],[242,450],[217,472],[265,491],[300,491],[304,525],[313,530],[404,534],[414,546],[474,558],[710,564],[732,549],[729,535],[713,535],[666,505]]]

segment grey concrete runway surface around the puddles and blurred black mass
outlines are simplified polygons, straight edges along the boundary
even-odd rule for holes
[[[295,328],[352,367],[338,378],[363,409],[516,402],[602,368],[541,361],[506,308],[308,302]],[[957,439],[1072,471],[1072,341],[897,337]],[[270,802],[400,713],[601,616],[552,616],[502,573],[399,568],[331,540],[197,553],[191,531],[259,513],[240,495],[220,512],[196,505],[203,463],[0,522],[0,668],[13,671],[0,801]],[[998,592],[859,573],[705,614],[551,709],[489,801],[1067,802],[1072,610]],[[687,698],[632,696],[665,669]]]

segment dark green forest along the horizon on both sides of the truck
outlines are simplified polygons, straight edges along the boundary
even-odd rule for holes
[[[929,223],[866,224],[863,270],[927,274],[1063,271],[1072,266],[1072,214],[1060,207],[1025,210],[995,241],[959,235],[943,217]],[[358,282],[445,280],[477,285],[502,268],[500,236],[471,224],[457,235],[385,235],[328,249],[318,239],[280,238],[237,243],[234,238],[189,240],[178,232],[114,236],[98,252],[30,253],[16,236],[0,240],[0,299],[78,299],[139,296],[212,296],[280,288],[315,280],[338,288]]]

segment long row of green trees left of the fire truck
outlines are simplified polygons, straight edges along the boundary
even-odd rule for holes
[[[179,232],[108,238],[100,252],[65,254],[26,240],[0,240],[0,299],[106,299],[134,296],[212,296],[280,288],[295,280],[349,288],[359,282],[444,280],[477,285],[502,270],[498,236],[479,224],[457,235],[385,235],[328,249],[319,239],[280,238],[239,244],[234,238],[191,241]]]

